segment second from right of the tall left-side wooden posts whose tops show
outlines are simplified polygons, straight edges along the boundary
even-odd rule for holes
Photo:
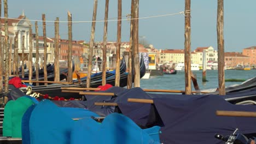
[[[60,81],[59,17],[55,20],[54,81]]]

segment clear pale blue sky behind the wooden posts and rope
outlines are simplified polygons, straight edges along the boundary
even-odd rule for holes
[[[9,17],[18,17],[25,11],[31,20],[67,21],[67,11],[72,13],[73,21],[91,21],[93,0],[22,0],[8,1]],[[116,18],[118,1],[110,0],[109,18]],[[104,19],[104,0],[98,0],[97,20]],[[255,0],[224,1],[224,40],[225,52],[242,52],[242,49],[256,44]],[[2,2],[3,6],[3,2]],[[122,15],[130,14],[131,1],[123,0]],[[184,11],[184,0],[140,0],[139,17],[179,13]],[[3,7],[2,7],[3,11]],[[3,15],[3,12],[2,12]],[[126,17],[123,17],[125,19]],[[217,50],[217,0],[191,0],[191,50],[196,47],[213,46]],[[34,25],[34,22],[32,22]],[[42,34],[42,22],[39,22]],[[46,34],[54,37],[54,23],[46,23]],[[103,37],[103,22],[96,24],[95,41]],[[74,23],[73,39],[90,40],[91,22]],[[67,23],[61,23],[60,34],[67,39]],[[184,16],[172,15],[139,20],[139,36],[154,45],[156,49],[184,49]],[[129,41],[130,22],[122,21],[121,40]],[[117,21],[108,22],[108,40],[117,40]]]

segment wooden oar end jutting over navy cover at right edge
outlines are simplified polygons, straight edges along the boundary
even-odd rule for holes
[[[217,116],[229,117],[256,117],[256,112],[247,111],[216,111]]]

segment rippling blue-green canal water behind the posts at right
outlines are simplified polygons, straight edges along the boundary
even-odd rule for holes
[[[206,80],[202,82],[202,70],[193,71],[197,76],[197,83],[201,90],[218,87],[218,70],[207,70]],[[256,76],[256,70],[225,70],[225,79],[251,79]],[[150,76],[149,79],[141,79],[141,88],[149,89],[174,89],[185,90],[185,73],[177,71],[176,75]],[[225,86],[241,84],[242,82],[225,82]],[[193,83],[191,88],[194,90]]]

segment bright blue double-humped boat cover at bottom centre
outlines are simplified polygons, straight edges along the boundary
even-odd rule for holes
[[[111,113],[102,123],[91,118],[77,121],[72,128],[71,144],[79,143],[160,143],[160,127],[141,129],[130,118]]]

